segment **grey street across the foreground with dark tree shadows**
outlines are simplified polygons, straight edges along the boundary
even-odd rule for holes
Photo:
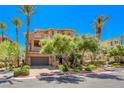
[[[124,68],[108,74],[74,74],[0,82],[1,88],[124,88]]]

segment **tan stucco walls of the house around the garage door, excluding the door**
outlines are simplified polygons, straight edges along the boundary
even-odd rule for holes
[[[50,65],[56,66],[58,64],[55,62],[55,58],[53,58],[52,55],[40,54],[39,53],[40,47],[34,47],[34,40],[51,38],[52,32],[59,32],[59,33],[64,32],[65,35],[72,36],[74,31],[71,29],[47,29],[47,30],[35,29],[34,32],[30,32],[29,34],[30,49],[28,53],[28,57],[29,57],[28,64],[29,65],[31,65],[31,57],[48,57]],[[24,33],[24,35],[26,35],[26,33]]]

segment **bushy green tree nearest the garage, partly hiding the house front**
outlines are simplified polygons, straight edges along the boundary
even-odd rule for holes
[[[40,41],[41,53],[52,54],[59,59],[60,64],[67,61],[67,57],[72,49],[70,43],[71,37],[56,34],[51,39],[45,39]]]

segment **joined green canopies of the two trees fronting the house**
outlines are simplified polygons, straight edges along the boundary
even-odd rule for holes
[[[41,53],[52,54],[55,57],[64,58],[66,57],[69,61],[78,61],[84,56],[86,51],[96,53],[98,50],[97,39],[92,35],[82,36],[65,36],[65,35],[54,35],[51,39],[44,39],[40,42]],[[71,58],[73,57],[73,58]]]

